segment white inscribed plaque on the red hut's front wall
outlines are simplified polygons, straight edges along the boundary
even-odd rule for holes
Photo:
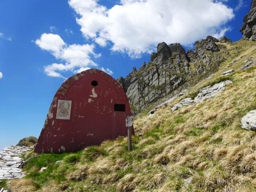
[[[72,101],[60,100],[58,101],[56,119],[70,119]]]

